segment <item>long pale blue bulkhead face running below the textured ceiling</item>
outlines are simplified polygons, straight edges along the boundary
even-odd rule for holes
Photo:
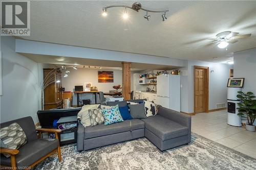
[[[46,50],[47,49],[47,50]],[[16,52],[184,67],[186,60],[16,39]]]

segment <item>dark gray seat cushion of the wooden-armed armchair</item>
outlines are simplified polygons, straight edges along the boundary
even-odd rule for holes
[[[37,139],[28,142],[23,147],[19,148],[19,153],[16,155],[17,166],[29,166],[41,157],[49,154],[58,147],[58,140]],[[11,166],[11,159],[6,158],[1,154],[1,165]]]

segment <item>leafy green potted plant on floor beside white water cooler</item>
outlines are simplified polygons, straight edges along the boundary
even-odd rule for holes
[[[255,126],[253,123],[256,118],[256,97],[250,91],[247,93],[238,91],[238,93],[237,98],[241,100],[238,103],[238,115],[247,116],[246,130],[254,132]]]

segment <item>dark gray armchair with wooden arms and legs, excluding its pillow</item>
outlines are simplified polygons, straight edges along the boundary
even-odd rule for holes
[[[27,143],[20,147],[18,150],[1,148],[1,167],[10,166],[12,169],[30,169],[41,160],[44,160],[53,153],[58,153],[59,162],[61,161],[60,147],[57,133],[61,130],[58,129],[35,129],[32,117],[24,117],[11,120],[6,123],[0,124],[0,128],[7,127],[13,123],[17,123],[25,132],[27,136]],[[36,133],[38,132],[38,135]],[[55,133],[56,139],[46,140],[41,139],[41,132]],[[11,155],[9,158],[3,154]]]

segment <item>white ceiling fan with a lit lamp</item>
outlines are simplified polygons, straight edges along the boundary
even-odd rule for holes
[[[225,31],[216,35],[216,38],[209,38],[210,40],[215,40],[210,43],[218,43],[219,48],[225,48],[229,43],[238,42],[238,39],[250,37],[251,34],[238,35],[239,33]]]

